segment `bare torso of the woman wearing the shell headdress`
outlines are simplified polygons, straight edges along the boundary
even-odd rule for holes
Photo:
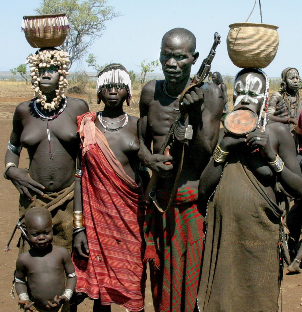
[[[37,107],[40,109],[39,104],[37,104]],[[27,148],[30,161],[30,178],[45,187],[43,192],[60,191],[70,186],[74,181],[76,156],[79,148],[76,138],[76,116],[82,115],[88,110],[85,101],[68,97],[65,110],[56,119],[49,121],[51,154],[53,157],[51,160],[47,137],[47,121],[39,118],[33,108],[32,100],[22,102],[17,106],[10,141],[15,146],[22,145]],[[54,114],[53,111],[47,113],[45,110],[42,113],[44,115]],[[5,163],[15,162],[13,158],[16,158],[16,155],[7,151]],[[12,179],[13,183],[14,174],[18,170],[20,169],[14,167],[9,169],[8,177]],[[25,171],[24,174],[26,174]],[[33,195],[33,192],[31,194]]]

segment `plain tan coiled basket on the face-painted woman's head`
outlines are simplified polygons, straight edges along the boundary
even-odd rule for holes
[[[236,23],[229,27],[226,46],[234,65],[264,68],[275,58],[279,46],[277,26]]]

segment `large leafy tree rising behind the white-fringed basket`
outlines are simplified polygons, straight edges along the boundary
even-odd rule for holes
[[[70,29],[61,48],[70,54],[70,65],[85,57],[97,38],[103,35],[105,23],[120,12],[106,5],[105,0],[41,0],[38,14],[65,12]]]

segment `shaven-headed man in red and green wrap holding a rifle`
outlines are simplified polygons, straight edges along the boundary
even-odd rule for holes
[[[140,98],[139,157],[161,177],[156,195],[162,207],[171,196],[182,145],[174,147],[173,158],[157,153],[179,108],[188,112],[188,122],[193,127],[193,138],[184,146],[173,207],[164,213],[151,207],[146,216],[145,259],[158,268],[151,276],[156,311],[192,312],[197,295],[204,238],[204,217],[196,205],[197,189],[201,172],[217,143],[223,101],[219,87],[211,84],[211,90],[204,95],[199,88],[186,94],[184,105],[178,107],[178,97],[190,85],[191,66],[199,55],[195,48],[196,38],[187,29],[167,32],[160,53],[165,80],[147,83]],[[172,165],[164,164],[172,159]]]

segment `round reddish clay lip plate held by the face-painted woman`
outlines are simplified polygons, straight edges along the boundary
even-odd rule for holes
[[[235,135],[244,135],[256,129],[258,116],[251,110],[233,110],[224,119],[225,129]]]

